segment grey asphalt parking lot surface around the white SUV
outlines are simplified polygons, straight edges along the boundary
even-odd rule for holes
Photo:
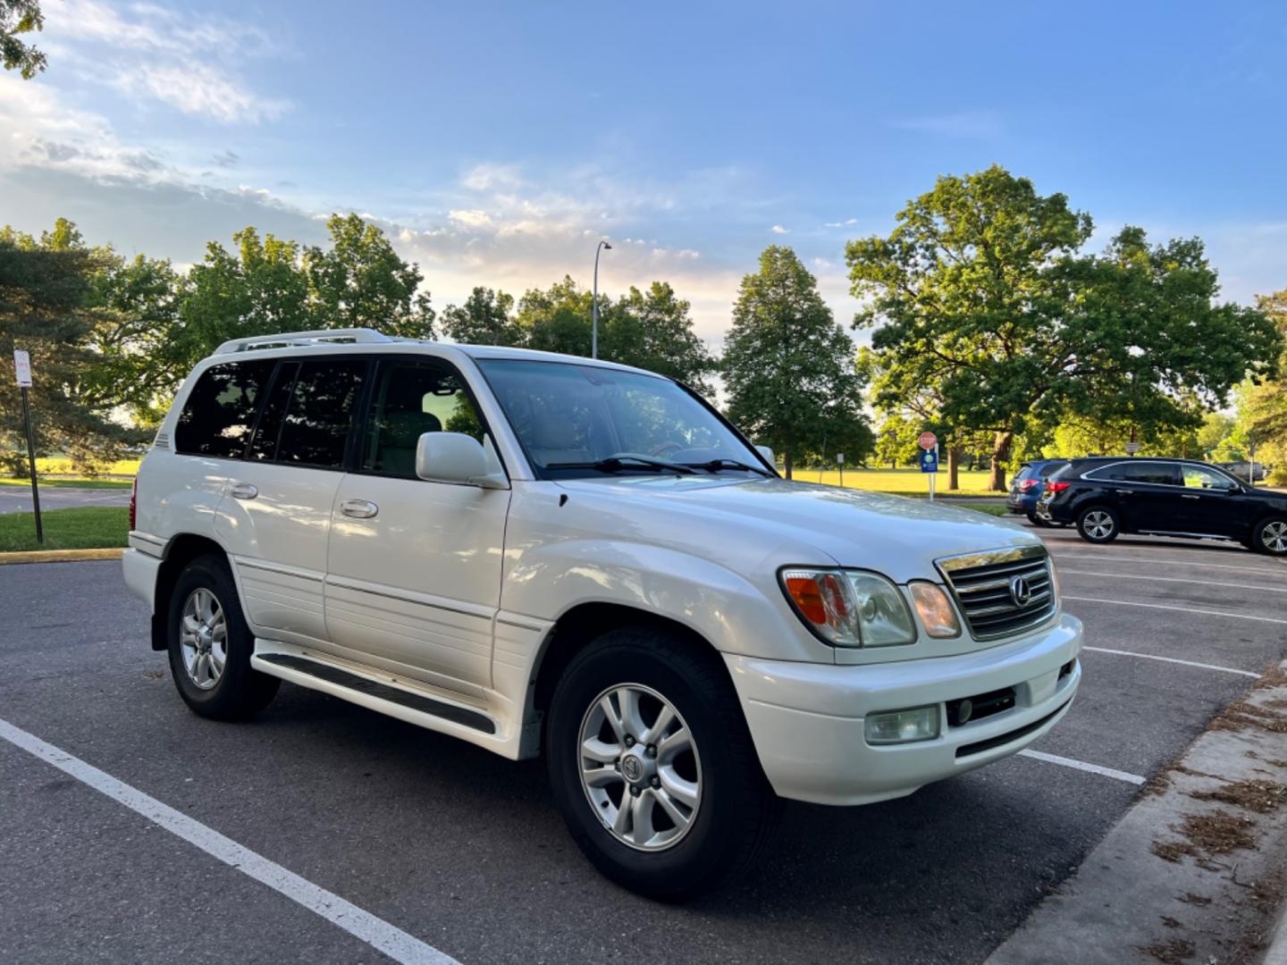
[[[1089,647],[1041,757],[790,804],[755,872],[685,907],[593,872],[539,763],[288,685],[250,724],[192,715],[115,562],[0,566],[0,719],[470,965],[982,961],[1287,650],[1284,562],[1040,534]],[[0,960],[381,959],[8,740],[0,768]]]

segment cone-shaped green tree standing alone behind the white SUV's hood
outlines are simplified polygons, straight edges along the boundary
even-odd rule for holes
[[[741,280],[722,371],[728,417],[782,457],[788,479],[825,436],[866,425],[855,355],[795,252],[766,248]]]

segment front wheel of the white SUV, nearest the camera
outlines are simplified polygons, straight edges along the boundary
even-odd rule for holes
[[[568,666],[546,755],[555,800],[607,878],[683,901],[746,867],[779,802],[713,651],[610,630]]]

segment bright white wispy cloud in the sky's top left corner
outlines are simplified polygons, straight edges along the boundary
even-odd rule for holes
[[[142,3],[117,8],[102,0],[49,0],[46,30],[64,45],[69,69],[183,113],[257,124],[291,107],[228,73],[228,62],[281,53],[254,24]]]

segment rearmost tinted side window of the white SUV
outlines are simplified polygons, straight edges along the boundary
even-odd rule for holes
[[[228,362],[202,372],[179,413],[175,452],[239,459],[275,364]]]

